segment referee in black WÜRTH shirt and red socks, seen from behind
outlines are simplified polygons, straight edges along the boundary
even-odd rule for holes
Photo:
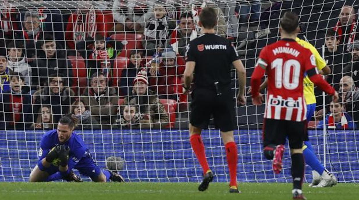
[[[198,187],[200,191],[208,188],[213,179],[212,171],[206,160],[205,149],[201,140],[201,131],[208,128],[211,114],[216,128],[219,128],[225,144],[230,174],[229,192],[238,193],[237,187],[237,145],[234,143],[234,104],[230,90],[231,64],[237,69],[239,81],[238,103],[244,104],[244,87],[246,71],[231,43],[215,34],[216,15],[213,8],[202,9],[199,15],[202,35],[187,45],[186,70],[184,73],[184,93],[189,93],[194,78],[190,116],[190,142],[203,169],[203,180]]]

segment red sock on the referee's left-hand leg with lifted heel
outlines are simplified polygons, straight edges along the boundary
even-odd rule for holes
[[[206,153],[204,150],[204,145],[201,139],[201,135],[197,135],[197,134],[192,135],[190,137],[190,142],[192,149],[195,152],[197,159],[202,166],[203,174],[206,174],[207,171],[209,170],[209,166],[206,158]]]

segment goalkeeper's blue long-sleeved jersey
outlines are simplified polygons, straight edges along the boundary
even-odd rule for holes
[[[88,148],[80,136],[76,133],[72,133],[69,140],[60,144],[57,130],[49,131],[42,136],[40,142],[39,160],[45,158],[48,152],[50,152],[50,150],[56,145],[67,145],[70,147],[69,161],[67,161],[69,169],[77,168],[80,165],[87,164],[89,160],[92,160],[92,156],[88,152]],[[52,165],[56,166],[54,163],[52,163]]]

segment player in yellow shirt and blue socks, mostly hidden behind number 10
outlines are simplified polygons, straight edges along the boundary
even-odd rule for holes
[[[320,74],[330,74],[330,68],[327,66],[325,60],[320,56],[317,49],[313,45],[305,40],[296,38],[298,44],[304,48],[311,50],[312,54],[316,58],[317,69]],[[309,121],[316,108],[316,98],[314,95],[314,84],[305,74],[304,77],[304,98],[307,103],[307,120]],[[267,79],[261,84],[260,90],[267,87]],[[248,91],[249,93],[250,91]],[[308,141],[308,136],[304,140],[303,156],[306,163],[312,168],[313,181],[309,184],[310,187],[329,187],[336,185],[337,180],[333,174],[331,174],[325,167],[319,162],[318,158],[314,155],[314,151],[311,143]]]

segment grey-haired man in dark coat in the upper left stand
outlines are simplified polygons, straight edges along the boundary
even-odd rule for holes
[[[37,13],[28,11],[25,13],[23,20],[23,30],[15,36],[15,39],[25,40],[27,58],[36,58],[37,41],[43,38],[40,16]]]

